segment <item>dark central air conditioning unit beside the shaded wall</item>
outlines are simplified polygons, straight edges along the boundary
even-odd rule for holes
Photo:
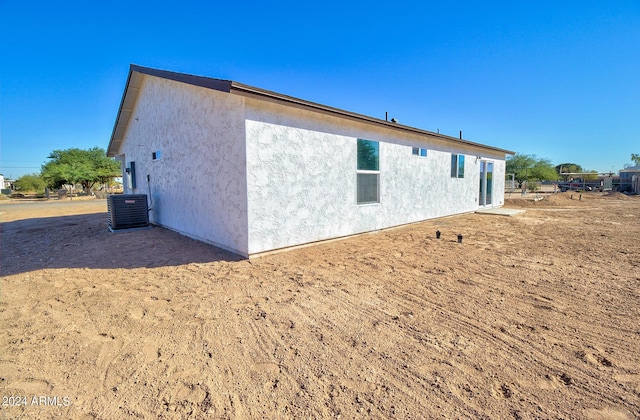
[[[107,197],[109,229],[141,228],[149,226],[146,194],[116,194]]]

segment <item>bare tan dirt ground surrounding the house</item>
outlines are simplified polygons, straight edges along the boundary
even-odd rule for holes
[[[2,202],[0,417],[640,418],[640,197],[572,194],[251,261]]]

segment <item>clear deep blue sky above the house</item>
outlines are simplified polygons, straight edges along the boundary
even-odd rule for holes
[[[640,153],[640,0],[0,0],[0,173],[106,149],[129,64],[617,171]]]

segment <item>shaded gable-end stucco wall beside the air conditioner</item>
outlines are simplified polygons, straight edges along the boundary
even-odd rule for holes
[[[126,192],[150,193],[154,223],[247,255],[244,127],[241,97],[145,76],[120,150],[136,166]]]

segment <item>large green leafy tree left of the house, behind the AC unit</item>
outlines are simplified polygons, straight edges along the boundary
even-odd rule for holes
[[[97,183],[107,183],[120,175],[120,163],[108,158],[104,149],[71,148],[54,150],[49,162],[42,165],[42,177],[51,188],[81,184],[86,193]]]

